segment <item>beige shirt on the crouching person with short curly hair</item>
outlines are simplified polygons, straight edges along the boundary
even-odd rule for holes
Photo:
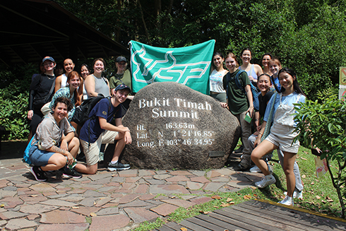
[[[51,148],[54,146],[54,141],[56,143],[61,142],[61,137],[73,132],[73,128],[68,123],[66,117],[61,119],[60,123],[57,124],[52,113],[48,113],[42,122],[37,126],[36,136],[32,139],[32,143],[37,140],[41,141],[42,148]]]

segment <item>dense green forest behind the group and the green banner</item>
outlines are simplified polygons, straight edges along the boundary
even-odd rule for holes
[[[250,47],[252,62],[257,64],[270,52],[282,66],[297,72],[312,100],[318,90],[338,88],[339,68],[346,66],[346,0],[56,2],[126,47],[130,40],[157,47],[184,47],[215,39],[215,49],[224,53],[232,51],[239,56],[241,49]],[[9,138],[28,134],[28,85],[36,72],[33,64],[1,66],[0,81],[6,85],[0,89],[0,124],[18,130]]]

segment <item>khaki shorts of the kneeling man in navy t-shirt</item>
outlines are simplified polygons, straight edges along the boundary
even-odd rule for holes
[[[115,137],[118,135],[117,131],[104,131],[97,138],[94,143],[89,143],[87,141],[80,140],[83,146],[85,159],[87,165],[96,165],[100,161],[99,153],[102,143],[114,143]]]

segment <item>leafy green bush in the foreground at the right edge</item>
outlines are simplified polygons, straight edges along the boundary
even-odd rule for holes
[[[295,107],[297,114],[297,129],[300,141],[305,146],[316,146],[323,152],[321,159],[326,158],[327,163],[331,160],[338,163],[336,171],[328,170],[333,186],[338,192],[341,205],[342,217],[345,218],[345,190],[346,184],[346,102],[338,100],[332,90],[318,92],[318,100],[306,100]]]

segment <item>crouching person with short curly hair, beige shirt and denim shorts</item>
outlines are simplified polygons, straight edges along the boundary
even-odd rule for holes
[[[68,98],[56,98],[52,113],[37,126],[29,151],[29,158],[35,165],[31,172],[37,181],[47,180],[45,171],[52,170],[61,170],[65,177],[82,177],[73,167],[68,167],[73,165],[79,149],[78,138],[74,137],[73,128],[66,119],[72,107]]]

